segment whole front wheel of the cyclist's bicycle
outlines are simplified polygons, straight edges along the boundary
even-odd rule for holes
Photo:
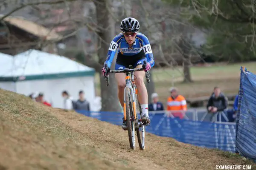
[[[128,137],[131,149],[135,149],[135,129],[134,121],[132,119],[133,109],[131,103],[131,90],[129,88],[125,89],[125,113],[126,113],[126,125],[128,130]]]

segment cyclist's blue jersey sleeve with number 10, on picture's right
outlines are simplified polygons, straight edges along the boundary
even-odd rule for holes
[[[145,52],[148,62],[150,63],[151,67],[153,67],[154,66],[154,56],[153,56],[151,45],[148,41],[148,38],[144,34],[138,34],[137,37],[139,37],[139,39],[143,45],[142,48]]]

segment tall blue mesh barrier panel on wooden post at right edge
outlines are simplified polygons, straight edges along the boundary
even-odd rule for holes
[[[256,75],[242,70],[236,120],[236,150],[256,159]]]

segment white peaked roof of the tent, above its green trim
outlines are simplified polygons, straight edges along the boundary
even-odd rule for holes
[[[6,64],[3,65],[3,68],[0,68],[1,72],[6,72],[7,70],[9,71],[2,75],[2,77],[94,71],[93,68],[89,68],[67,57],[32,49],[15,55],[11,65]]]

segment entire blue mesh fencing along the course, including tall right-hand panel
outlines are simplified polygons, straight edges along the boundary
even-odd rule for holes
[[[194,121],[193,111],[187,112],[186,119],[172,119],[165,113],[150,113],[151,125],[146,131],[158,136],[175,138],[177,141],[200,147],[218,148],[231,152],[239,152],[244,157],[256,159],[256,75],[242,71],[240,79],[239,106],[236,123],[211,123],[208,114],[204,120]],[[122,125],[123,113],[77,111],[114,125]],[[205,111],[197,112],[201,120]],[[233,112],[224,114],[232,119]],[[217,117],[218,118],[218,117]],[[219,121],[219,120],[218,120]]]

